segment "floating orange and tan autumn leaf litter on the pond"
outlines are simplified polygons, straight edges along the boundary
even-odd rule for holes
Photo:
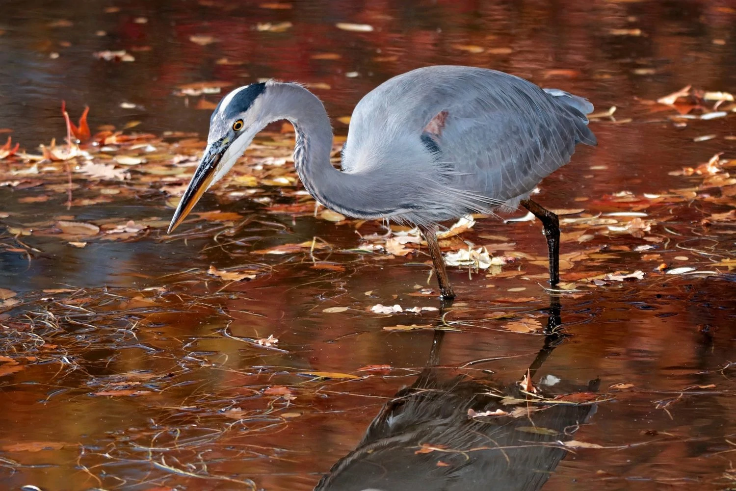
[[[361,29],[347,30],[369,32]],[[205,85],[199,88],[183,87],[180,88],[180,95],[206,97],[209,93],[219,93],[219,87],[216,84],[210,88]],[[689,115],[698,116],[697,121],[731,117],[733,99],[729,99],[729,93],[701,93],[692,91],[691,88],[681,92],[682,94],[674,98],[659,102],[660,105],[672,106],[676,110],[673,121]],[[687,109],[687,105],[693,107]],[[685,109],[687,112],[683,112]],[[66,114],[66,108],[64,113]],[[210,465],[216,467],[218,462],[208,462],[201,456],[201,451],[215,448],[218,439],[232,437],[235,431],[233,421],[246,422],[247,428],[238,431],[244,431],[248,435],[286,431],[289,425],[294,424],[289,423],[289,420],[307,419],[310,414],[321,411],[322,409],[318,409],[319,399],[329,391],[344,391],[349,384],[370,384],[375,378],[389,374],[397,377],[414,375],[412,371],[392,369],[390,365],[342,372],[305,370],[304,367],[285,368],[277,363],[260,364],[261,361],[258,362],[257,369],[236,370],[217,358],[224,353],[210,352],[205,348],[195,350],[194,347],[179,342],[178,339],[183,335],[174,332],[172,326],[176,325],[175,319],[180,319],[183,313],[200,319],[202,325],[207,325],[207,319],[216,316],[235,317],[237,314],[228,310],[228,305],[232,305],[230,297],[235,292],[246,292],[242,288],[250,280],[257,283],[267,273],[288,268],[289,266],[283,264],[289,264],[289,261],[296,261],[297,264],[304,261],[304,264],[311,266],[340,266],[342,269],[314,269],[319,274],[337,273],[342,276],[344,266],[348,264],[344,261],[345,258],[353,261],[355,256],[361,258],[365,264],[384,264],[386,261],[405,264],[417,260],[428,264],[426,244],[417,229],[394,224],[384,227],[378,222],[353,220],[339,213],[319,209],[300,187],[291,165],[291,133],[271,132],[259,135],[252,149],[239,161],[233,172],[213,188],[213,199],[217,206],[227,206],[241,199],[248,199],[258,202],[264,213],[278,216],[279,219],[303,216],[320,222],[322,227],[331,227],[329,230],[358,232],[356,239],[347,245],[344,241],[341,245],[319,238],[304,240],[304,237],[297,239],[295,236],[288,236],[286,243],[263,241],[250,244],[241,240],[248,235],[241,233],[245,230],[246,223],[257,227],[275,225],[263,223],[264,220],[248,222],[246,214],[224,210],[210,209],[195,213],[187,221],[188,228],[183,233],[172,236],[165,233],[170,210],[159,210],[158,216],[90,218],[80,210],[110,202],[105,201],[107,199],[125,202],[142,195],[149,199],[158,199],[161,208],[165,202],[170,206],[173,201],[169,200],[180,197],[183,193],[183,188],[201,157],[205,142],[196,135],[150,135],[135,133],[132,129],[110,128],[91,134],[86,123],[88,113],[89,110],[85,109],[77,124],[72,124],[67,118],[70,136],[65,146],[57,146],[52,141],[51,144],[40,147],[40,152],[30,153],[21,149],[18,144],[13,144],[9,138],[0,147],[0,159],[3,163],[0,180],[8,183],[7,188],[26,194],[43,194],[51,202],[67,200],[69,205],[68,209],[59,210],[67,213],[66,216],[46,222],[23,223],[13,216],[5,216],[3,221],[7,227],[2,244],[6,250],[23,251],[32,260],[43,254],[43,240],[66,241],[73,247],[102,244],[102,241],[107,240],[199,240],[200,244],[204,244],[202,250],[211,247],[224,252],[224,256],[218,258],[214,264],[231,264],[222,258],[227,258],[228,261],[234,257],[245,260],[238,262],[244,266],[236,268],[217,269],[210,265],[209,269],[206,266],[187,269],[160,283],[149,280],[149,286],[141,288],[65,287],[47,289],[48,292],[24,292],[20,295],[9,289],[0,289],[1,310],[4,311],[2,315],[7,315],[3,320],[4,333],[7,334],[3,340],[3,353],[13,353],[13,356],[7,357],[9,359],[0,359],[0,376],[4,380],[21,377],[25,372],[40,372],[46,370],[44,367],[53,366],[54,372],[58,370],[60,375],[54,375],[52,380],[79,378],[78,384],[63,386],[64,383],[60,382],[63,390],[70,394],[102,399],[141,398],[158,404],[157,398],[163,392],[180,389],[178,384],[191,382],[186,375],[188,373],[218,370],[233,377],[232,384],[219,387],[217,392],[208,392],[205,387],[191,392],[178,406],[157,406],[159,414],[165,419],[178,422],[171,423],[171,429],[177,437],[165,436],[155,427],[146,428],[145,431],[127,432],[124,438],[110,436],[108,443],[114,449],[112,453],[88,448],[82,456],[83,462],[88,462],[88,466],[95,462],[102,467],[111,467],[118,462],[138,462],[140,456],[136,449],[151,448],[146,464],[152,469],[188,478],[224,478],[224,475],[205,471]],[[610,112],[608,116],[612,114]],[[684,120],[694,121],[687,118]],[[342,142],[338,139],[333,146],[335,160],[341,146]],[[673,177],[682,179],[681,188],[668,189],[650,184],[645,193],[636,194],[623,189],[601,197],[591,197],[584,202],[585,208],[560,211],[565,213],[560,213],[563,282],[559,289],[567,292],[566,294],[576,295],[581,291],[626,288],[632,283],[652,285],[671,280],[666,275],[698,274],[712,270],[715,272],[707,274],[722,275],[736,269],[736,261],[733,261],[732,252],[726,244],[732,239],[729,227],[734,221],[736,179],[731,176],[734,164],[725,150],[703,160],[696,163],[684,162],[679,166]],[[714,189],[718,189],[718,192],[712,192]],[[693,202],[698,202],[699,208],[692,208],[690,205]],[[677,216],[679,212],[694,219],[673,219],[672,216]],[[469,273],[480,272],[479,278],[474,278],[473,281],[480,284],[492,281],[496,289],[507,278],[513,278],[517,282],[527,281],[527,289],[543,283],[547,259],[543,250],[520,250],[511,239],[514,231],[506,231],[506,227],[523,230],[523,227],[538,227],[539,224],[509,222],[504,229],[492,229],[493,233],[503,235],[492,236],[484,230],[478,230],[480,227],[475,220],[480,218],[464,217],[438,233],[447,264],[452,268],[467,269]],[[9,222],[8,219],[15,222]],[[715,237],[712,239],[715,244],[707,247],[702,244],[693,246],[688,242],[694,234],[693,230],[698,233],[707,230],[710,237]],[[657,258],[645,258],[645,255],[657,255]],[[672,264],[673,261],[681,261],[677,259],[679,257],[690,258],[687,259],[689,264]],[[272,262],[263,264],[263,261]],[[664,266],[660,267],[662,264]],[[427,293],[422,293],[423,290],[420,288],[412,294],[426,295]],[[431,292],[431,289],[428,290]],[[513,295],[507,294],[507,297],[498,294],[498,290],[489,294],[489,300],[497,305],[498,310],[492,309],[488,312],[486,309],[484,315],[487,316],[488,325],[495,326],[499,331],[512,333],[541,333],[543,322],[537,311],[538,305],[534,305],[542,295],[541,289],[539,293],[529,292],[523,294],[523,297],[518,294],[523,290],[514,290],[510,292]],[[529,294],[537,296],[527,296]],[[345,313],[359,316],[366,315],[369,311],[382,316],[397,316],[392,317],[389,322],[393,325],[382,328],[385,331],[397,331],[397,336],[411,335],[405,335],[403,331],[442,329],[432,319],[439,314],[436,307],[425,304],[406,307],[408,294],[406,295],[396,301],[389,295],[379,295],[382,303],[318,308],[316,314],[339,314],[336,317],[344,317]],[[372,300],[376,301],[378,300]],[[498,304],[501,304],[503,311]],[[447,321],[445,326],[450,326],[453,330],[459,327],[463,330],[477,327],[470,325],[470,322],[453,323],[473,318],[473,322],[478,320],[477,311],[474,313],[472,308],[460,303],[456,305],[459,305],[456,310],[450,312],[446,318],[443,317]],[[417,322],[407,321],[400,316],[411,317]],[[422,317],[417,320],[419,316]],[[238,326],[237,323],[233,327],[242,329],[242,325]],[[255,332],[241,332],[236,335],[233,327],[213,331],[202,337],[194,336],[192,339],[196,338],[197,342],[207,345],[209,336],[219,336],[233,343],[233,350],[236,352],[240,350],[241,353],[253,357],[261,357],[262,353],[280,356],[288,352],[278,345],[288,347],[289,333],[279,333],[280,339],[274,334],[264,338]],[[378,328],[381,329],[380,326]],[[146,332],[146,329],[160,329],[165,334],[161,337],[154,331]],[[187,342],[193,341],[188,339]],[[156,353],[155,356],[160,357],[163,365],[159,368],[163,370],[146,373],[126,371],[110,376],[93,376],[93,370],[90,369],[107,366],[113,358],[99,362],[85,360],[85,350],[90,347],[104,348],[116,353],[130,349]],[[163,347],[171,351],[166,352]],[[529,398],[525,401],[532,400],[542,407],[600,403],[609,397],[595,392],[570,392],[546,398],[539,392],[540,386],[534,383],[529,372],[518,386],[525,397]],[[707,388],[698,390],[712,389],[708,384],[702,386]],[[637,385],[629,383],[615,384],[610,388],[638,393]],[[347,390],[361,392],[360,389]],[[496,395],[500,400],[514,402],[507,398],[508,394]],[[676,408],[678,400],[677,397],[660,399],[655,401],[653,407],[670,411],[673,407]],[[294,409],[295,405],[297,409]],[[507,409],[510,410],[495,409],[478,411],[475,414],[468,411],[468,417],[480,420],[528,417],[532,411],[529,408]],[[198,423],[197,428],[184,423],[194,420]],[[534,426],[522,428],[526,428],[519,430],[523,433],[554,431]],[[125,441],[126,439],[129,440]],[[156,445],[153,445],[153,439],[157,440]],[[137,447],[130,446],[130,442]],[[35,452],[64,450],[77,444],[29,441],[15,445],[20,446],[13,451]],[[563,441],[561,445],[573,449],[603,448],[596,443],[576,439]],[[11,451],[5,447],[3,449]],[[447,451],[447,448],[427,444],[422,447],[422,451],[431,453]],[[271,456],[278,453],[274,449],[264,452]],[[172,460],[170,456],[174,454],[177,457]],[[114,459],[110,459],[110,455],[114,455]],[[178,459],[194,459],[198,464],[194,467],[174,464]],[[250,485],[250,481],[241,481]]]

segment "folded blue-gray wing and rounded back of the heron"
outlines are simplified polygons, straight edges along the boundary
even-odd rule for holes
[[[399,148],[420,147],[442,166],[445,186],[506,202],[565,165],[576,144],[595,144],[585,117],[591,111],[581,97],[500,71],[419,68],[355,107],[346,152],[353,158],[344,169],[368,160],[356,157],[361,149],[389,160]]]

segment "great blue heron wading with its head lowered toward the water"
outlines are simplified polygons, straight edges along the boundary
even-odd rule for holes
[[[450,300],[454,293],[437,224],[498,207],[523,205],[542,222],[554,285],[559,281],[559,220],[529,194],[570,160],[576,144],[596,143],[585,116],[592,109],[586,99],[501,71],[417,68],[383,82],[358,102],[340,172],[330,163],[330,119],[313,93],[291,82],[246,85],[224,96],[212,113],[205,154],[169,233],[256,133],[286,119],[297,134],[294,165],[307,191],[346,216],[420,227],[442,298]]]

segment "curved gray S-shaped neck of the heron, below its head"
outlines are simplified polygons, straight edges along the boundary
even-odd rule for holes
[[[372,172],[340,172],[330,163],[333,133],[325,106],[317,97],[293,83],[275,83],[267,107],[272,121],[286,119],[294,124],[297,141],[294,166],[309,194],[326,207],[354,218],[383,218],[400,211],[386,191],[389,183]],[[270,118],[269,118],[270,119]]]

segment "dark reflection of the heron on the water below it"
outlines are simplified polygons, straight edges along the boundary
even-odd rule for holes
[[[559,309],[553,298],[531,380],[562,342]],[[561,442],[572,439],[595,404],[534,402],[519,384],[500,384],[486,372],[480,378],[448,374],[439,367],[444,335],[435,331],[428,367],[383,406],[358,447],[315,491],[530,491],[550,478],[567,453]],[[537,384],[545,398],[597,389],[598,380],[576,386],[549,375]],[[509,415],[468,414],[499,409]]]

